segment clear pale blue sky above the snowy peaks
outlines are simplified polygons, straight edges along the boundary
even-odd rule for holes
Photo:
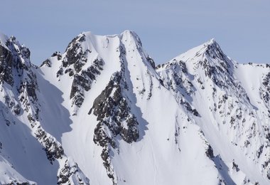
[[[215,38],[239,63],[270,63],[269,0],[3,0],[0,31],[41,64],[82,31],[133,30],[156,63]]]

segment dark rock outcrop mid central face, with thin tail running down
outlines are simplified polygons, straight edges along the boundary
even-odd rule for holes
[[[115,179],[109,153],[111,147],[117,148],[116,137],[119,135],[127,143],[136,142],[139,139],[139,123],[131,113],[128,99],[124,96],[123,91],[126,89],[127,85],[124,83],[121,72],[114,73],[89,112],[89,114],[96,115],[99,121],[95,128],[94,142],[103,147],[101,154],[103,164],[114,184]]]

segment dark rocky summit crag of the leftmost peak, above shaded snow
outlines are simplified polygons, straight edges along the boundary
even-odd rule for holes
[[[15,37],[9,38],[5,45],[6,47],[0,45],[0,83],[11,85],[18,93],[18,100],[6,97],[6,105],[13,109],[16,115],[19,115],[21,110],[32,110],[35,115],[38,112],[35,104],[38,100],[38,83],[33,72],[35,66],[30,63],[31,53],[28,48],[18,43]]]

